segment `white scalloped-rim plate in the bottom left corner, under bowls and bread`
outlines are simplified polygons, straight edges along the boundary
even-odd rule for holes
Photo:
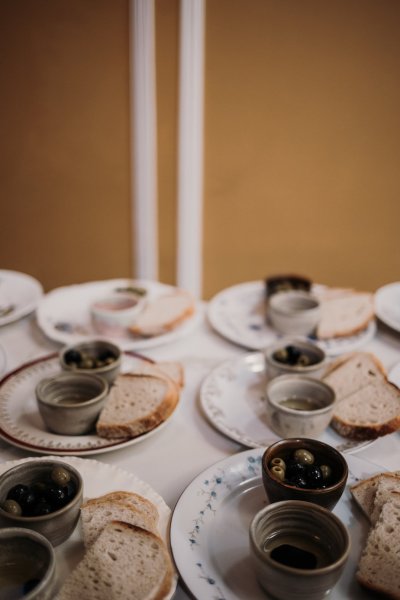
[[[75,457],[57,458],[51,456],[51,460],[62,460],[75,467],[83,478],[83,494],[84,499],[96,498],[103,494],[113,491],[135,492],[148,498],[157,507],[160,520],[159,531],[161,537],[170,545],[169,542],[169,524],[171,520],[171,510],[164,502],[162,497],[146,482],[142,481],[132,473],[123,471],[117,467],[107,465],[96,460],[82,459]],[[27,461],[49,460],[46,458],[23,458],[21,460],[13,460],[0,464],[0,474],[11,469],[15,465]],[[84,555],[84,546],[82,538],[82,529],[78,523],[71,537],[63,544],[57,546],[56,563],[57,563],[57,579],[63,582],[65,577],[72,571]],[[177,585],[177,577],[174,577],[171,589],[168,591],[167,598],[172,598]]]

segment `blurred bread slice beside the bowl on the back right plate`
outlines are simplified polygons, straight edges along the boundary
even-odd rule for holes
[[[375,316],[373,295],[354,292],[321,300],[316,335],[320,340],[347,337],[366,329]]]

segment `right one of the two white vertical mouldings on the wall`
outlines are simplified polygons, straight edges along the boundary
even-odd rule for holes
[[[177,283],[202,295],[205,0],[181,0]]]

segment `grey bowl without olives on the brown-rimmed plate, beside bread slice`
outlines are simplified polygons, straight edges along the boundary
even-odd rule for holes
[[[94,430],[109,386],[98,375],[61,372],[39,381],[35,391],[39,412],[50,431],[83,435]]]

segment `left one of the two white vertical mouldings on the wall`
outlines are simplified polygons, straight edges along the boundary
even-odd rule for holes
[[[154,0],[130,1],[132,252],[137,278],[158,279]]]

